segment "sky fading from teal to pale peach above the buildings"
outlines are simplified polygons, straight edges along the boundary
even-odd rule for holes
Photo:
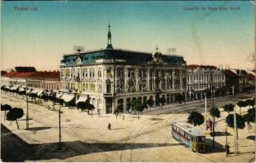
[[[1,7],[2,70],[56,70],[74,46],[106,48],[109,21],[114,49],[153,53],[158,46],[167,54],[175,47],[187,64],[254,66],[248,58],[254,53],[253,1],[2,2]]]

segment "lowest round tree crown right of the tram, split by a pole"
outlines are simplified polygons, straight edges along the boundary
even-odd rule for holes
[[[227,126],[230,126],[231,128],[234,128],[234,114],[229,114],[226,117],[226,123]],[[242,117],[240,114],[236,113],[236,127],[238,129],[244,129],[245,128],[245,118]]]

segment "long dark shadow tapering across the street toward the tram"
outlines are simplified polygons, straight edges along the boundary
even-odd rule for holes
[[[58,139],[58,138],[56,138]],[[139,148],[159,148],[182,145],[179,143],[85,143],[79,140],[64,142],[65,152],[54,152],[59,143],[26,143],[11,130],[1,125],[2,161],[38,161],[66,159],[95,152],[111,152]]]

